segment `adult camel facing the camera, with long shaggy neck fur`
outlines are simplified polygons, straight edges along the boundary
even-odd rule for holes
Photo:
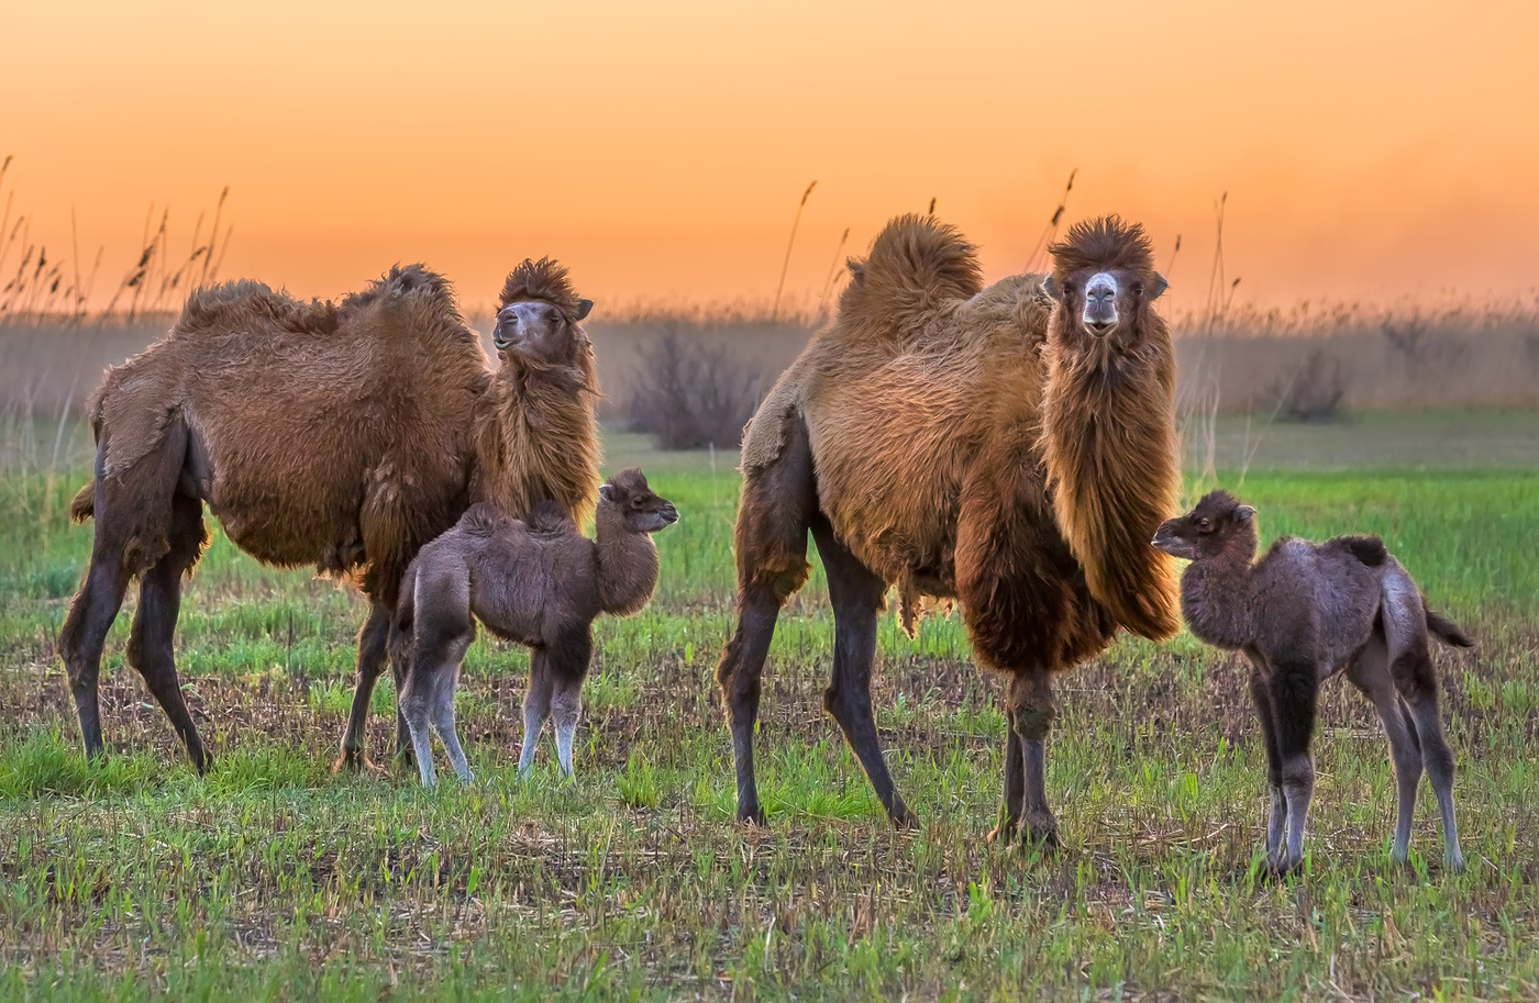
[[[834,606],[839,721],[894,823],[910,820],[871,715],[876,618],[905,629],[957,600],[977,660],[1007,677],[1005,803],[991,838],[1057,838],[1043,789],[1057,672],[1119,628],[1176,632],[1150,537],[1177,486],[1174,352],[1142,228],[1074,226],[1051,275],[983,289],[956,229],[906,215],[877,237],[837,320],[780,377],[743,438],[737,631],[717,666],[737,817],[762,821],[753,731],[776,618],[808,575]]]

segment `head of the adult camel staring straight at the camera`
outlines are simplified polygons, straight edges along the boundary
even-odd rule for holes
[[[1091,338],[1136,337],[1168,286],[1143,226],[1120,215],[1074,223],[1048,252],[1053,272],[1042,291],[1063,309],[1065,331]]]

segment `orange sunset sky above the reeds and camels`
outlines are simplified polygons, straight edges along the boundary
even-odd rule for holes
[[[1228,191],[1242,298],[1531,298],[1536,3],[18,3],[5,194],[128,268],[231,188],[223,275],[305,295],[396,260],[488,303],[553,254],[613,306],[823,285],[839,234],[937,214],[1020,271],[1068,220],[1143,220],[1200,303]],[[174,245],[177,246],[177,245]],[[14,266],[14,258],[12,258]]]

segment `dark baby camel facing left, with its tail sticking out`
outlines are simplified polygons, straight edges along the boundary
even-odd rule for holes
[[[1473,641],[1434,614],[1420,589],[1377,537],[1310,543],[1277,540],[1256,561],[1256,509],[1214,491],[1187,515],[1165,521],[1154,546],[1191,561],[1180,608],[1199,638],[1244,651],[1250,689],[1267,737],[1271,866],[1304,860],[1304,826],[1314,792],[1310,738],[1320,683],[1345,669],[1373,701],[1390,737],[1400,788],[1394,860],[1411,841],[1411,811],[1425,763],[1442,809],[1444,861],[1462,871],[1453,817],[1453,751],[1437,712],[1437,675],[1428,631],[1457,648]],[[1287,831],[1287,846],[1284,832]]]

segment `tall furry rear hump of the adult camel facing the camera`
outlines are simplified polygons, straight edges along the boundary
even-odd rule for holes
[[[931,311],[983,289],[977,249],[933,215],[897,217],[877,234],[863,262],[848,265],[851,282],[839,305],[845,331],[911,334]]]

